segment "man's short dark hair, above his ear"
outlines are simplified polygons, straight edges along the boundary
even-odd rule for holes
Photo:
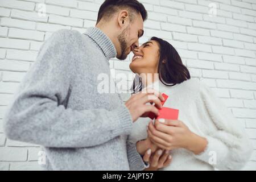
[[[97,23],[100,22],[102,18],[112,18],[112,15],[117,13],[117,10],[121,8],[126,8],[130,11],[140,13],[143,21],[147,19],[147,10],[142,3],[138,2],[137,0],[105,0],[98,11]],[[132,21],[133,12],[129,12],[129,14]]]

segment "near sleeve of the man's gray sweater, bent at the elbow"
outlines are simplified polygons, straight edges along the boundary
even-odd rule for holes
[[[64,106],[71,92],[78,32],[55,32],[40,49],[4,118],[8,138],[46,147],[90,147],[127,135],[132,119],[117,109],[74,110]],[[90,97],[90,96],[88,96]]]

